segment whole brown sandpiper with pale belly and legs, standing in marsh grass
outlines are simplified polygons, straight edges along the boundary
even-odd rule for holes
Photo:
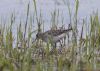
[[[56,47],[56,43],[60,42],[64,37],[66,37],[66,33],[71,31],[70,29],[57,29],[57,30],[48,30],[43,33],[37,33],[36,39],[41,39],[44,42],[50,42],[53,47]]]

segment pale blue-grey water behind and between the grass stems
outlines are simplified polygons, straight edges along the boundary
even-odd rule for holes
[[[68,14],[68,8],[66,5],[66,1],[63,2],[63,0],[36,0],[37,3],[37,14],[40,15],[40,12],[42,13],[42,18],[44,20],[44,30],[50,29],[51,26],[51,13],[53,13],[55,10],[59,10],[59,21],[58,25],[62,25],[62,20],[64,20],[65,28],[69,24],[69,14]],[[100,11],[100,0],[79,0],[79,11],[78,11],[78,19],[79,19],[79,25],[82,24],[82,19],[87,18],[87,20],[90,17],[90,14],[93,13],[93,11],[97,11],[98,13]],[[30,16],[33,17],[34,12],[34,5],[33,0],[0,0],[0,21],[2,23],[7,23],[10,20],[11,14],[14,13],[16,16],[16,23],[15,25],[18,25],[20,23],[20,20],[22,21],[22,24],[25,24],[26,20],[26,14],[27,14],[27,5],[30,2]],[[75,0],[70,0],[71,5],[71,11],[72,16],[74,16],[75,12]],[[99,13],[100,15],[100,13]],[[29,16],[29,19],[30,19]],[[32,21],[34,18],[32,18]],[[30,23],[30,22],[28,22]],[[36,22],[34,22],[34,28],[36,27]],[[14,26],[14,29],[17,27]],[[79,28],[80,30],[80,28]],[[16,32],[16,30],[13,30],[13,32]]]

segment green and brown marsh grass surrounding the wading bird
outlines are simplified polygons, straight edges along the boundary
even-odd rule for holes
[[[87,23],[83,19],[81,30],[78,30],[79,1],[75,0],[75,15],[72,19],[70,5],[68,5],[70,26],[73,31],[68,35],[68,44],[62,48],[62,52],[56,49],[50,53],[50,44],[44,46],[41,40],[33,40],[32,35],[43,29],[42,17],[37,17],[36,1],[34,9],[36,15],[37,30],[33,30],[32,23],[28,23],[29,4],[25,30],[20,22],[17,26],[17,37],[13,35],[15,15],[11,16],[9,26],[0,24],[0,71],[100,71],[100,21],[98,13],[90,16]],[[56,12],[55,12],[56,13]],[[52,15],[52,28],[55,29],[56,14]],[[63,22],[62,22],[63,23]],[[79,34],[78,31],[81,31]],[[84,35],[85,32],[85,35]],[[71,37],[69,37],[69,35]],[[84,35],[84,36],[83,36]],[[15,43],[16,42],[16,43]]]

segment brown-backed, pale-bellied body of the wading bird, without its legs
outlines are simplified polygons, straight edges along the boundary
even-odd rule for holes
[[[59,41],[61,38],[63,38],[65,33],[71,31],[72,29],[58,29],[58,30],[49,30],[44,33],[41,33],[39,36],[40,39],[42,39],[45,42],[48,42],[49,40],[52,40],[52,42]]]

